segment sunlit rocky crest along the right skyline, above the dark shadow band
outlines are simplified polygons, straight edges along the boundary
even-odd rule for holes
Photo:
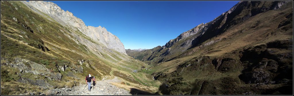
[[[240,4],[241,2],[239,2],[238,4]],[[150,51],[150,52],[141,51],[141,53],[137,53],[137,54],[144,54],[144,56],[137,55],[137,54],[131,54],[130,56],[132,56],[134,58],[137,58],[139,56],[140,59],[142,58],[141,60],[147,61],[148,64],[156,64],[156,63],[159,63],[159,62],[162,62],[165,60],[170,60],[174,57],[167,57],[167,55],[170,55],[170,54],[179,55],[179,53],[187,50],[188,48],[193,47],[193,42],[194,42],[193,40],[201,37],[207,31],[207,29],[211,25],[213,25],[217,20],[219,20],[221,17],[226,16],[227,14],[233,12],[235,10],[236,6],[238,6],[238,4],[236,4],[235,6],[230,8],[229,11],[221,14],[220,16],[218,16],[217,18],[215,18],[211,22],[208,22],[205,24],[201,23],[201,24],[197,25],[196,27],[194,27],[193,29],[190,29],[186,32],[183,32],[177,38],[171,39],[170,41],[168,41],[164,46],[157,46],[153,49],[145,50],[145,51]],[[179,41],[181,41],[181,42],[179,42]],[[161,59],[161,60],[157,59],[155,62],[153,62],[154,61],[153,59],[158,58],[158,57],[160,57],[160,58],[164,57],[164,58],[168,58],[168,59]],[[153,61],[151,61],[151,60],[153,60]],[[148,62],[148,61],[150,61],[150,62]]]

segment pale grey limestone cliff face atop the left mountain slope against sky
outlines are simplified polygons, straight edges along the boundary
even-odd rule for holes
[[[52,2],[46,2],[46,1],[29,1],[29,2],[23,1],[23,2],[24,4],[29,6],[32,10],[34,10],[36,13],[39,13],[43,16],[46,14],[50,16],[50,18],[53,18],[55,21],[60,23],[61,25],[64,25],[65,27],[69,27],[76,31],[82,32],[83,34],[90,37],[94,41],[104,45],[106,48],[113,49],[123,54],[126,54],[123,43],[121,43],[121,41],[118,39],[117,36],[108,32],[104,27],[86,26],[85,23],[81,19],[75,17],[73,13],[62,10],[59,6],[57,6],[56,4]],[[41,11],[42,13],[39,11]],[[92,46],[92,45],[86,45],[86,46]]]

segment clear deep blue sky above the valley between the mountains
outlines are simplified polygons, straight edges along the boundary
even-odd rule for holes
[[[239,1],[51,1],[87,26],[102,26],[125,49],[163,46],[181,33],[207,23]]]

